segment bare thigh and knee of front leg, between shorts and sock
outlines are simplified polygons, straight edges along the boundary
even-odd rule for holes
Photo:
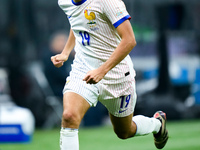
[[[69,122],[62,121],[65,128],[78,128],[90,104],[79,94],[66,92],[63,97],[63,119],[70,118]]]

